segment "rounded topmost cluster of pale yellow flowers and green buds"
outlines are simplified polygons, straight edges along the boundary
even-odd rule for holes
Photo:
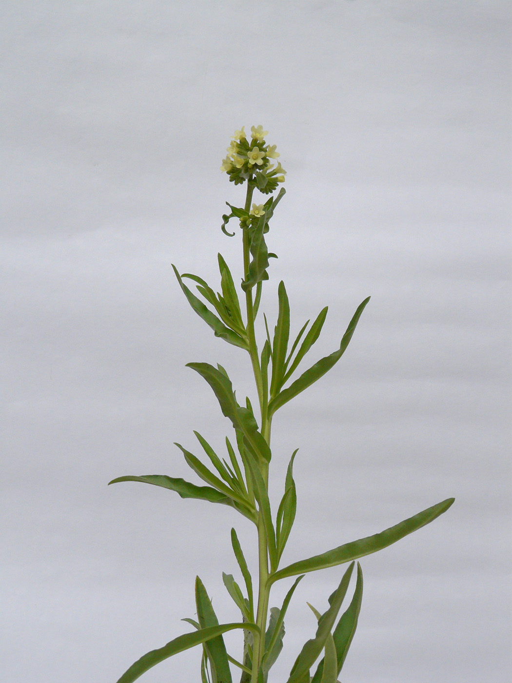
[[[266,143],[268,130],[263,130],[263,126],[251,126],[251,141],[248,141],[244,128],[236,130],[231,137],[221,171],[225,171],[236,185],[245,180],[255,182],[259,191],[268,195],[274,192],[279,182],[285,182],[286,171],[279,161],[275,166],[270,164],[279,152],[276,152],[276,145]]]

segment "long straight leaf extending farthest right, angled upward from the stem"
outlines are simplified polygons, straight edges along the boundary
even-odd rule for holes
[[[418,512],[414,517],[403,520],[403,522],[399,522],[399,524],[380,533],[375,533],[373,536],[366,536],[357,541],[345,543],[342,546],[328,550],[327,553],[322,553],[322,555],[315,555],[314,557],[294,562],[272,574],[268,581],[274,583],[274,581],[279,581],[279,579],[285,579],[286,576],[296,576],[296,574],[315,572],[326,567],[335,567],[338,564],[376,553],[377,550],[382,550],[382,548],[396,543],[404,536],[416,531],[416,529],[429,524],[440,514],[446,512],[454,500],[454,498],[447,498],[437,505],[432,505],[432,507],[427,507],[426,510]]]

